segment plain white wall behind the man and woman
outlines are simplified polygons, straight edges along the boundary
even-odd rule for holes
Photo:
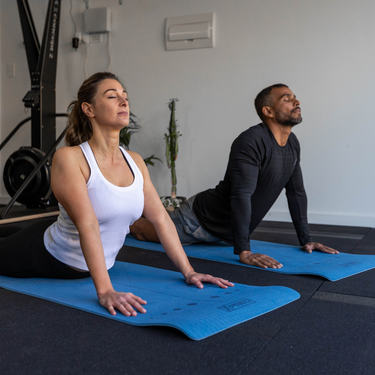
[[[180,153],[178,194],[190,196],[224,176],[233,139],[259,122],[256,94],[286,83],[301,100],[303,122],[295,128],[312,223],[375,227],[375,24],[373,0],[91,0],[90,7],[113,12],[112,71],[125,82],[131,109],[143,129],[131,148],[163,160],[167,103],[177,97]],[[41,36],[46,0],[30,0]],[[15,2],[1,5],[1,138],[21,121],[21,99],[29,89],[28,70]],[[57,110],[64,111],[85,78],[85,46],[70,43],[74,25],[70,2],[62,5]],[[84,1],[73,1],[81,28]],[[167,52],[165,18],[216,13],[216,47]],[[89,45],[88,73],[108,69],[106,38]],[[16,63],[15,78],[6,64]],[[59,120],[58,132],[63,129]],[[26,126],[0,153],[1,166],[28,145]],[[2,169],[1,169],[2,170]],[[160,195],[170,190],[166,164],[150,168]],[[1,195],[6,196],[4,187]],[[289,220],[284,194],[270,220]]]

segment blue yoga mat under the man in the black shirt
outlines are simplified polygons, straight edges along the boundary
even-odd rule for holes
[[[126,237],[125,245],[164,252],[160,244],[138,241],[131,236]],[[189,257],[263,269],[240,263],[238,255],[233,254],[233,246],[224,242],[188,245],[184,246],[184,249]],[[254,253],[269,255],[283,264],[281,268],[267,268],[266,271],[292,275],[316,275],[330,281],[341,280],[375,268],[375,255],[326,254],[320,251],[308,254],[298,246],[262,241],[251,241],[251,250]]]

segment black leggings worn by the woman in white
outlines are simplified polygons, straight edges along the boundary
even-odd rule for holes
[[[76,271],[53,257],[44,246],[46,229],[56,218],[30,224],[26,228],[0,226],[0,275],[82,279],[89,272]],[[6,236],[6,237],[4,237]]]

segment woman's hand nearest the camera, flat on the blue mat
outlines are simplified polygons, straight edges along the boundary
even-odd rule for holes
[[[99,303],[108,309],[112,315],[116,315],[116,310],[125,316],[136,316],[136,308],[139,312],[145,313],[146,310],[141,306],[147,302],[142,298],[135,296],[133,293],[116,292],[112,290],[99,297]]]

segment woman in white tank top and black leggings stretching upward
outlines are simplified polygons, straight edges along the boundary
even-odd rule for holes
[[[196,273],[175,226],[153,187],[146,165],[119,146],[129,124],[127,93],[112,73],[96,73],[70,106],[66,143],[52,162],[52,189],[59,201],[57,222],[43,221],[0,243],[0,274],[11,277],[91,276],[100,304],[115,315],[145,313],[142,298],[113,289],[108,269],[142,214],[154,225],[166,253],[188,284],[202,288],[227,280]]]

